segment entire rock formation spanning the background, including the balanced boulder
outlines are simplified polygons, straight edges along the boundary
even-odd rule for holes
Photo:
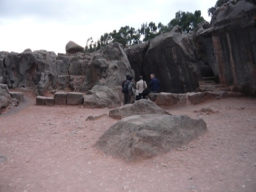
[[[0,83],[44,95],[49,90],[87,92],[95,85],[117,89],[127,74],[137,81],[142,75],[149,83],[154,73],[161,92],[194,92],[202,81],[213,79],[256,96],[255,34],[255,0],[228,1],[213,13],[211,23],[201,22],[188,34],[175,26],[127,50],[116,42],[83,53],[83,47],[68,42],[67,54],[0,52]]]

